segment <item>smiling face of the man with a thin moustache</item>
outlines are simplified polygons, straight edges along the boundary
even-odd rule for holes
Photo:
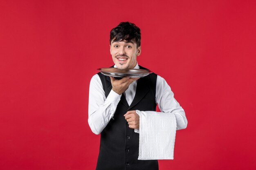
[[[141,53],[141,47],[133,42],[112,40],[110,44],[110,54],[112,60],[119,69],[134,68],[136,66],[136,58]]]

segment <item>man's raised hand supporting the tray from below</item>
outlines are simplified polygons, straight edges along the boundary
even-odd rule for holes
[[[110,77],[112,90],[115,91],[115,93],[121,95],[127,90],[129,85],[137,79],[139,79],[139,77],[138,78],[124,77],[119,80],[115,79],[114,77]]]

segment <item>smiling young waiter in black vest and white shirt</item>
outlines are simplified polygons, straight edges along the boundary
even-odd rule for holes
[[[141,53],[140,40],[140,29],[130,22],[121,22],[111,30],[110,54],[114,67],[146,69],[136,60]],[[115,79],[98,73],[92,77],[88,123],[92,132],[101,133],[97,170],[158,170],[157,160],[138,160],[139,115],[136,113],[136,110],[155,111],[157,104],[162,113],[175,115],[177,130],[186,128],[184,110],[159,75]]]

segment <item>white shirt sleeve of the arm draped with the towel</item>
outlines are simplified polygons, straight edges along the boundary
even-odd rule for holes
[[[159,75],[157,75],[155,100],[161,112],[175,115],[177,130],[186,128],[188,121],[183,108],[174,98],[174,94],[165,79]]]

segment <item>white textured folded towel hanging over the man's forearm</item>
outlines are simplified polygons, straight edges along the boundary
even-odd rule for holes
[[[139,160],[173,159],[176,118],[173,113],[139,111]]]

